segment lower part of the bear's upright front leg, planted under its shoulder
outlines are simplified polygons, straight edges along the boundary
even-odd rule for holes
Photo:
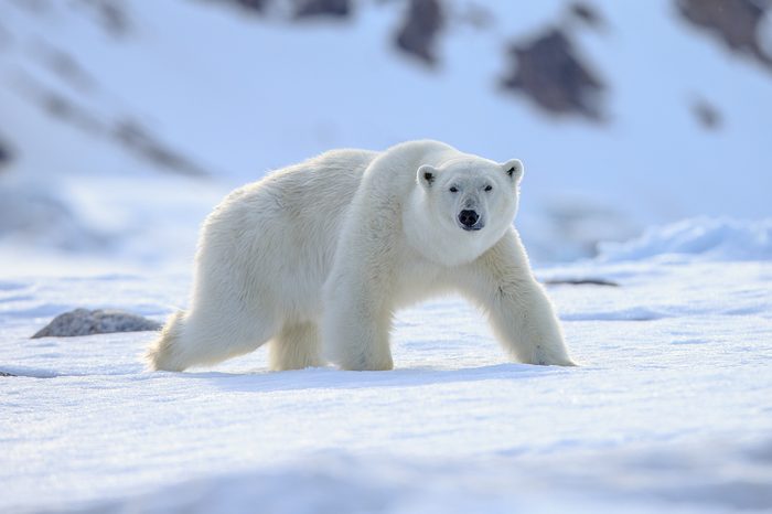
[[[382,277],[357,268],[334,269],[328,279],[322,319],[325,356],[342,370],[392,370],[388,287]]]

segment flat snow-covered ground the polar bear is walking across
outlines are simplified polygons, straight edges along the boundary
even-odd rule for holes
[[[772,228],[747,232],[537,270],[619,283],[549,288],[577,368],[507,363],[448,298],[399,314],[392,372],[148,373],[151,333],[28,338],[75,307],[160,320],[189,275],[4,277],[0,511],[770,512]]]

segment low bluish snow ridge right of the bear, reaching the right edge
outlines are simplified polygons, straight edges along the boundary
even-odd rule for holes
[[[769,260],[772,259],[772,219],[684,219],[650,228],[626,243],[601,244],[598,259],[615,263],[664,255],[699,256],[704,260]]]

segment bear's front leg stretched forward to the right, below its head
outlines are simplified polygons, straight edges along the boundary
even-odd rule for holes
[[[553,303],[511,228],[462,274],[462,290],[487,312],[494,334],[526,364],[575,366]]]

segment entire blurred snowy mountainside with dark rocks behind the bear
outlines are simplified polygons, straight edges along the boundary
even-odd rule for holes
[[[772,205],[772,2],[0,0],[0,266],[183,269],[230,189],[431,138],[537,265]]]

